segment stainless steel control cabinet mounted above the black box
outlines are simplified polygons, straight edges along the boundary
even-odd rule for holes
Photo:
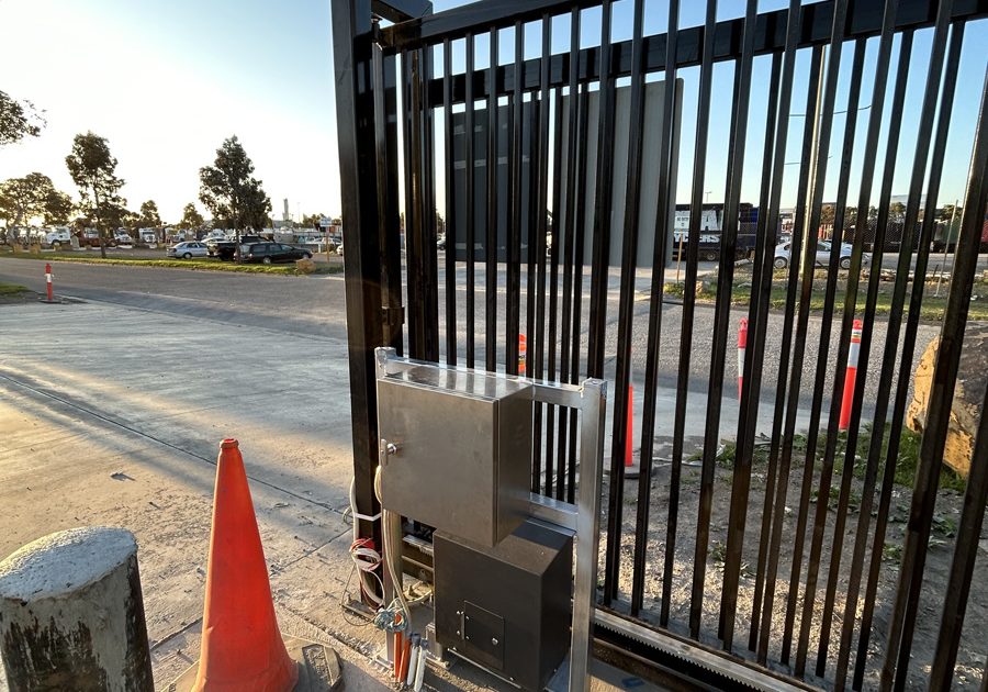
[[[416,366],[378,379],[382,504],[493,547],[525,520],[531,482],[529,382]]]

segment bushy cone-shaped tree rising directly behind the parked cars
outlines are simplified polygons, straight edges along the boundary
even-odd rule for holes
[[[254,164],[236,135],[216,149],[212,166],[199,169],[199,200],[213,214],[214,226],[233,226],[237,261],[240,261],[240,230],[263,228],[271,211],[271,200],[252,172]]]

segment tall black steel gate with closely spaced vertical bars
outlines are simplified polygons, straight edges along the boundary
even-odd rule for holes
[[[988,3],[699,4],[333,1],[358,505],[375,511],[373,348],[516,373],[524,335],[528,377],[617,392],[599,599],[638,634],[600,637],[811,685],[985,689],[988,416],[969,478],[938,485],[988,291]],[[914,279],[943,272],[934,210],[955,198],[933,302]],[[574,416],[537,411],[535,492],[573,498]]]

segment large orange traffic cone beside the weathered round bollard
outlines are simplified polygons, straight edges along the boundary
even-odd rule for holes
[[[216,464],[202,650],[195,692],[285,692],[299,679],[278,630],[268,566],[236,439]]]

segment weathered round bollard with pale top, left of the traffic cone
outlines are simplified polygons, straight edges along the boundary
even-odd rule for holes
[[[71,528],[0,562],[0,657],[11,692],[151,692],[134,535]]]

